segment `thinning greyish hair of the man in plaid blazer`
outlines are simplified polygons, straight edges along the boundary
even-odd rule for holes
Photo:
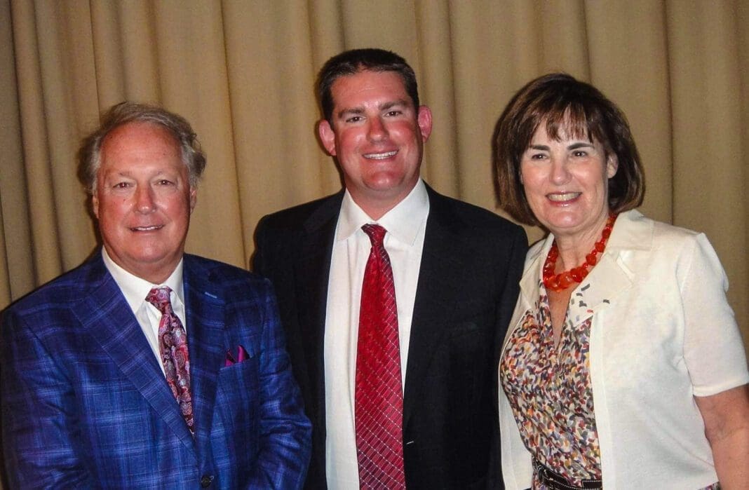
[[[122,102],[112,106],[101,116],[101,123],[83,139],[78,151],[78,176],[92,196],[96,192],[97,173],[101,166],[101,145],[109,133],[124,124],[143,122],[157,124],[174,136],[180,147],[182,161],[187,166],[190,187],[195,187],[205,169],[205,154],[189,122],[181,115],[158,106]]]

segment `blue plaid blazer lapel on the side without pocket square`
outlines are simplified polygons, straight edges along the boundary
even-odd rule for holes
[[[91,276],[98,279],[94,279],[88,294],[83,294],[82,300],[72,306],[73,312],[83,329],[88,330],[102,351],[112,357],[115,366],[135,385],[151,408],[187,447],[194,448],[192,435],[158,360],[100,255],[93,259],[91,267]]]

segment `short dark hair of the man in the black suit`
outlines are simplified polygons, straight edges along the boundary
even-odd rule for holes
[[[377,48],[350,49],[333,56],[325,62],[318,75],[318,97],[324,118],[333,124],[333,82],[342,76],[351,76],[360,71],[394,71],[403,79],[406,93],[413,106],[419,108],[419,90],[416,86],[416,73],[413,68],[392,51]]]

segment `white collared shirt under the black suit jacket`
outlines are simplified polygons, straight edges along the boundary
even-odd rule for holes
[[[395,283],[401,380],[405,386],[413,302],[428,214],[429,196],[421,179],[403,201],[377,221],[351,199],[348,190],[343,196],[330,261],[325,315],[325,451],[327,484],[331,490],[359,488],[354,429],[357,333],[364,268],[372,248],[361,227],[377,223],[387,231],[384,246]]]

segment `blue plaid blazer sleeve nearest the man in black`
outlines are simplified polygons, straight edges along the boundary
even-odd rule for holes
[[[312,424],[285,350],[276,299],[265,281],[260,354],[260,453],[248,488],[300,489],[311,453]]]

